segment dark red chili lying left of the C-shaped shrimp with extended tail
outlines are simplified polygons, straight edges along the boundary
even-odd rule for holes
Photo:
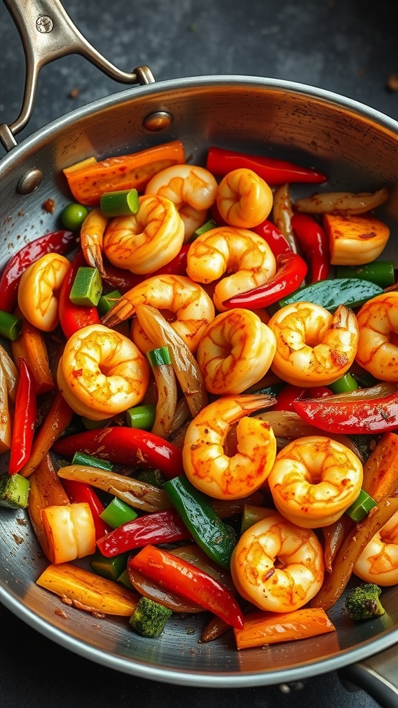
[[[67,457],[75,452],[87,452],[114,464],[153,467],[160,469],[166,479],[183,473],[180,448],[140,428],[115,426],[84,430],[57,440],[52,449]]]

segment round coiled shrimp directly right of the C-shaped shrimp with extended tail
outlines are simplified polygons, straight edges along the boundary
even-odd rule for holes
[[[329,526],[356,501],[363,481],[360,459],[322,435],[297,438],[278,452],[268,476],[276,508],[304,528]]]

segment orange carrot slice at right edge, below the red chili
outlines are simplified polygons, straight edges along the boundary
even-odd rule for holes
[[[363,489],[375,499],[398,491],[398,435],[384,433],[363,465]]]

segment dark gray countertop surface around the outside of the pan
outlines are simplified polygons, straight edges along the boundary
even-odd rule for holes
[[[312,84],[398,118],[395,0],[64,0],[81,32],[125,71],[148,64],[155,79],[201,74],[271,76]],[[0,122],[13,122],[24,81],[21,40],[0,3]],[[389,88],[390,84],[390,88]],[[120,87],[81,57],[42,69],[33,117],[18,141]],[[1,149],[0,155],[4,154]],[[0,705],[86,708],[137,702],[154,708],[375,708],[334,674],[289,695],[278,687],[210,690],[160,685],[72,655],[0,607]]]

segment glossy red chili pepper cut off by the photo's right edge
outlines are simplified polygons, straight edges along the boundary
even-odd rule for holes
[[[295,401],[294,408],[300,418],[327,433],[360,435],[398,428],[398,392],[363,401],[303,399]]]

